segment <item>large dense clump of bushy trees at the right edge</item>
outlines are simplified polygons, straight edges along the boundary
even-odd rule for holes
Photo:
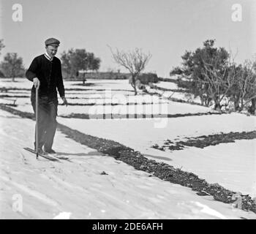
[[[185,51],[181,66],[173,67],[170,75],[177,75],[178,87],[199,97],[202,105],[214,105],[215,110],[230,106],[241,111],[250,106],[255,113],[256,63],[236,64],[225,48],[214,46],[214,39],[203,42],[203,48]]]

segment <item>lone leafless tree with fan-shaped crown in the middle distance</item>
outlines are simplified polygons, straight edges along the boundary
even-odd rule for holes
[[[111,48],[110,51],[114,61],[129,70],[131,85],[135,90],[135,95],[137,95],[136,80],[138,80],[140,72],[145,69],[146,64],[148,64],[148,61],[151,59],[151,54],[143,53],[142,50],[138,48],[129,52],[120,51],[118,49],[116,49],[116,52],[113,52]]]

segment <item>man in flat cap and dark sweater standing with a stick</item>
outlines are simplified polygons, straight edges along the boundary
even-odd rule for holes
[[[57,126],[58,97],[56,88],[64,105],[67,106],[61,61],[55,57],[59,44],[58,39],[47,39],[45,54],[37,56],[26,72],[26,78],[34,83],[31,89],[31,105],[34,113],[36,113],[36,88],[38,88],[38,151],[41,154],[44,152],[56,153],[52,148]],[[36,142],[34,142],[34,146],[36,146]],[[42,146],[44,146],[44,151]]]

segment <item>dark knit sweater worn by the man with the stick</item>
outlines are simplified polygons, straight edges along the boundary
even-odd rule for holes
[[[61,61],[53,57],[53,61],[45,58],[45,55],[37,56],[32,61],[29,69],[26,71],[26,78],[33,81],[33,78],[40,80],[39,96],[48,96],[57,98],[58,88],[60,97],[65,96],[63,79],[61,74]],[[36,89],[32,87],[32,92]]]

